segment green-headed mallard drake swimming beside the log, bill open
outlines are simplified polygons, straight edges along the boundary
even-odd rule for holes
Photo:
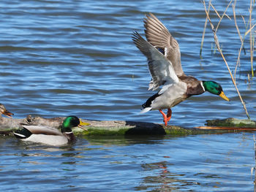
[[[88,126],[89,124],[90,123],[84,123],[78,117],[71,115],[64,119],[61,131],[48,126],[22,125],[23,128],[15,131],[13,134],[23,141],[59,146],[75,141],[72,128],[77,126],[83,128],[83,126]],[[86,128],[83,129],[87,130]]]

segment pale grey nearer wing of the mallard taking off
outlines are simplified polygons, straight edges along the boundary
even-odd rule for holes
[[[141,53],[148,58],[148,69],[152,76],[152,82],[150,82],[149,88],[153,88],[154,91],[160,85],[170,85],[178,82],[173,65],[165,58],[165,55],[162,55],[157,48],[143,39],[138,32],[133,33],[132,40]]]

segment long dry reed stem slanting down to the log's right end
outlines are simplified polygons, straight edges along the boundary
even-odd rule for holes
[[[210,4],[210,3],[211,3],[211,0],[209,1],[209,4]],[[236,88],[236,92],[238,93],[239,99],[241,100],[241,103],[243,104],[243,107],[244,107],[244,110],[245,110],[245,112],[246,112],[247,118],[250,119],[250,118],[249,118],[249,114],[248,114],[248,112],[247,112],[247,110],[246,110],[246,105],[245,105],[245,103],[244,103],[244,101],[243,101],[243,99],[242,99],[242,97],[241,97],[241,94],[240,94],[239,91],[238,91],[238,88],[237,88],[237,86],[236,86],[236,82],[235,82],[235,80],[234,80],[234,78],[233,78],[233,75],[232,75],[232,73],[231,73],[231,71],[230,71],[230,67],[228,66],[227,61],[226,61],[226,59],[225,59],[225,57],[224,57],[224,55],[223,55],[223,53],[222,53],[222,50],[221,50],[220,47],[219,47],[219,40],[218,40],[216,31],[215,31],[214,25],[213,25],[213,23],[211,23],[211,18],[210,18],[210,16],[208,15],[208,12],[207,12],[207,10],[206,10],[206,1],[205,1],[205,0],[203,0],[203,6],[204,6],[204,8],[205,8],[206,17],[208,18],[208,21],[209,21],[209,23],[210,23],[210,25],[211,25],[211,29],[212,29],[212,31],[214,32],[214,41],[215,41],[215,44],[216,44],[216,46],[217,46],[217,50],[218,50],[219,53],[222,55],[222,59],[223,59],[223,61],[225,62],[226,66],[227,66],[228,72],[230,73],[231,80],[232,80],[232,82],[233,82],[233,85],[234,85],[235,88]]]

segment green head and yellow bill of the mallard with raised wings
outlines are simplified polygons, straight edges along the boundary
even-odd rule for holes
[[[230,101],[230,99],[225,96],[222,86],[219,85],[218,82],[215,81],[203,81],[203,87],[205,88],[206,91],[213,93],[214,95],[218,95],[222,97],[222,99],[225,99],[226,101]]]

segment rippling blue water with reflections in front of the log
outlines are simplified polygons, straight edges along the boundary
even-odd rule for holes
[[[252,134],[79,137],[51,147],[0,139],[3,190],[252,191]],[[20,180],[20,177],[23,179]],[[20,187],[14,188],[11,183]]]

